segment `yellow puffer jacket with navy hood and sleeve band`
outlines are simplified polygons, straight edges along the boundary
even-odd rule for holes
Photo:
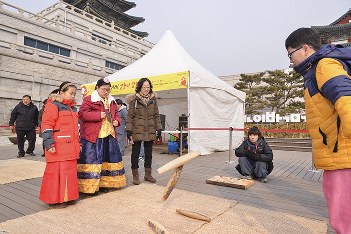
[[[317,169],[351,168],[351,77],[343,62],[332,59],[341,49],[348,49],[351,57],[351,48],[327,45],[294,68],[304,76],[306,122]],[[315,87],[314,66],[318,88],[325,97]]]

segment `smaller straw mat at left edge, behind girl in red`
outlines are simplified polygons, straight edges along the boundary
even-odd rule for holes
[[[0,184],[42,177],[45,166],[45,162],[22,158],[1,160]]]

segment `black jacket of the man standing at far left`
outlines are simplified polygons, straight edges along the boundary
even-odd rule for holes
[[[33,102],[29,106],[20,102],[11,113],[9,125],[13,126],[16,121],[17,130],[35,130],[38,127],[38,115],[38,108]]]

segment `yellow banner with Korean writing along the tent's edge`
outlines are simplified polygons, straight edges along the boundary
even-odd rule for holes
[[[188,88],[189,71],[169,73],[158,76],[146,77],[152,83],[153,91],[169,90],[169,89],[186,89]],[[124,81],[111,81],[111,95],[130,94],[135,92],[138,81],[141,78],[130,79]],[[95,89],[95,84],[81,85],[83,98],[91,95]]]

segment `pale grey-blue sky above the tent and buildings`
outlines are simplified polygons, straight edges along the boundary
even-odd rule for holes
[[[38,13],[53,0],[5,0]],[[216,76],[285,69],[285,39],[294,30],[329,25],[349,0],[132,0],[126,14],[145,21],[132,29],[157,43],[169,28],[185,50]]]

